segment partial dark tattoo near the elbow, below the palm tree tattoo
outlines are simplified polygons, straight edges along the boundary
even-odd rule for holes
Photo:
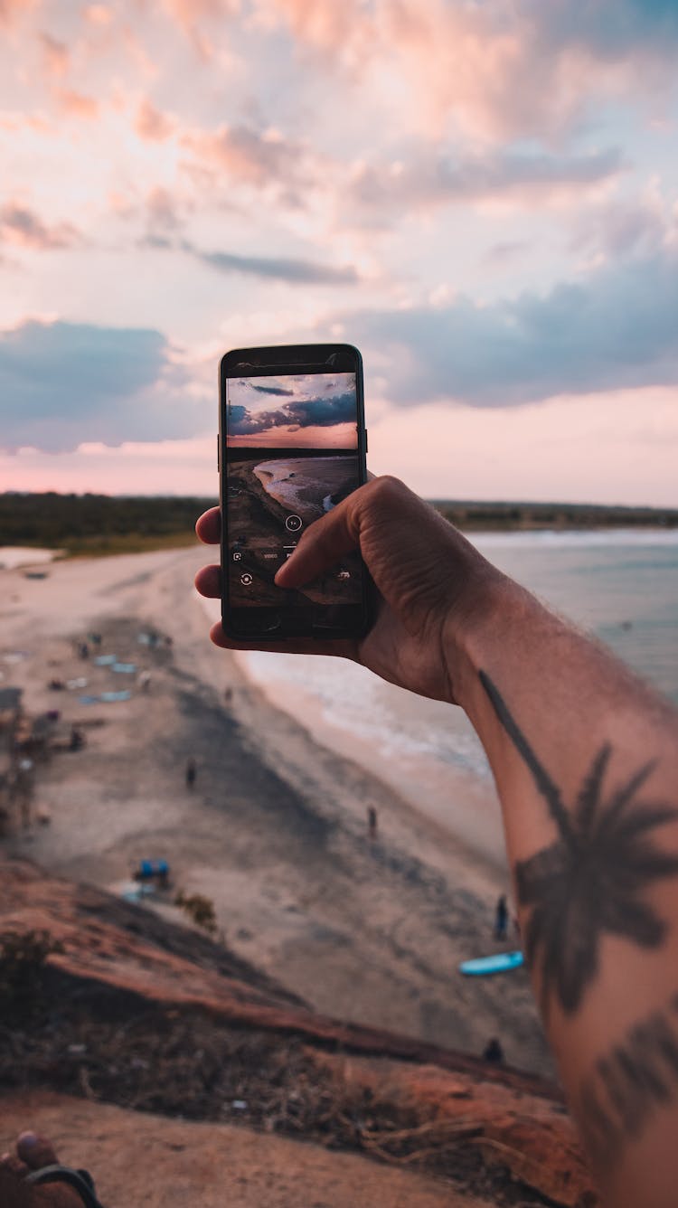
[[[604,1168],[638,1140],[655,1111],[678,1099],[678,994],[633,1024],[580,1085],[574,1108],[591,1157]]]

